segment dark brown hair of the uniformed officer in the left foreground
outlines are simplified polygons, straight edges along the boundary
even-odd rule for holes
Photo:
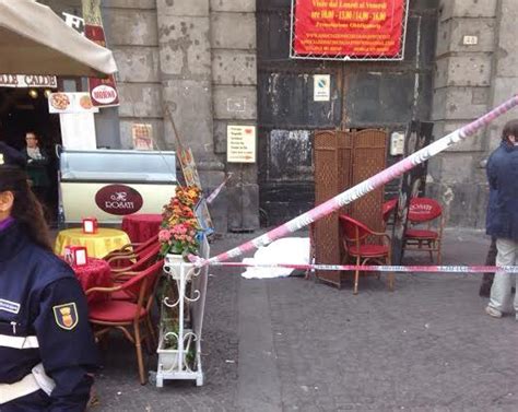
[[[22,225],[35,244],[52,251],[42,203],[31,190],[25,172],[17,167],[0,169],[0,191],[11,191],[14,196],[11,216]]]

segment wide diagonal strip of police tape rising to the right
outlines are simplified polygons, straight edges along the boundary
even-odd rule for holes
[[[402,161],[396,163],[395,165],[386,168],[385,170],[381,170],[380,173],[368,178],[367,180],[364,180],[361,184],[341,192],[340,195],[335,196],[332,199],[329,199],[328,201],[319,204],[318,207],[309,210],[308,212],[303,213],[302,215],[295,219],[292,219],[287,223],[284,223],[283,225],[259,237],[256,237],[252,240],[244,243],[243,245],[237,246],[231,250],[227,250],[208,260],[197,261],[197,264],[199,266],[214,264],[215,262],[223,262],[233,258],[237,258],[238,256],[243,256],[244,254],[255,250],[261,246],[267,246],[278,238],[284,237],[305,226],[308,226],[313,222],[316,222],[319,219],[340,210],[345,204],[349,204],[353,202],[354,200],[360,199],[364,195],[403,175],[405,172],[412,169],[419,164],[422,164],[428,161],[436,154],[459,143],[466,138],[473,136],[476,131],[487,126],[493,120],[504,115],[505,113],[507,113],[508,110],[510,110],[517,105],[518,105],[518,96],[514,96],[509,98],[507,102],[505,102],[504,104],[499,105],[495,109],[487,113],[486,115],[476,119],[475,121],[460,129],[457,129],[456,131],[449,133],[443,139],[439,139],[435,141],[434,143],[427,145],[426,148],[421,149],[420,151],[411,154],[410,156],[403,158]]]

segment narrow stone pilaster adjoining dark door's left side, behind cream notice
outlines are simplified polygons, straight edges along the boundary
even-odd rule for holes
[[[226,157],[228,125],[257,125],[256,0],[211,0],[215,152]],[[257,164],[227,164],[228,229],[259,227]]]

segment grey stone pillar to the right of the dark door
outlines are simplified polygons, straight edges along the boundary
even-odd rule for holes
[[[518,76],[514,55],[517,14],[514,0],[442,1],[433,107],[436,138],[470,122],[514,93]],[[448,225],[484,227],[484,161],[498,143],[502,125],[509,116],[513,113],[429,162],[429,193],[445,204]]]

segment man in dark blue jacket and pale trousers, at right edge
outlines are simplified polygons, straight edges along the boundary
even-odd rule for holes
[[[491,154],[486,170],[491,191],[486,233],[496,237],[496,266],[515,266],[518,261],[518,120],[505,125],[502,143]],[[485,308],[487,315],[502,317],[509,306],[513,286],[516,286],[516,274],[496,272]]]

